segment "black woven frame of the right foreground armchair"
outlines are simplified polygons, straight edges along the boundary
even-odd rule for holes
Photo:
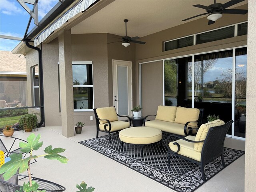
[[[192,161],[196,164],[200,164],[201,166],[201,172],[202,172],[202,178],[204,181],[206,181],[206,177],[205,177],[205,173],[204,173],[204,165],[206,165],[207,163],[211,162],[212,160],[218,158],[219,156],[221,156],[221,160],[222,160],[222,166],[225,167],[225,161],[224,161],[224,156],[223,156],[223,146],[224,146],[224,141],[226,138],[226,134],[228,132],[228,129],[230,128],[231,124],[234,121],[231,120],[229,122],[227,122],[224,125],[221,126],[215,126],[215,127],[211,127],[209,129],[209,132],[206,136],[205,140],[202,141],[192,141],[192,140],[188,140],[186,138],[183,138],[182,136],[179,135],[170,135],[168,136],[168,138],[166,139],[166,146],[168,148],[168,164],[170,166],[170,155],[173,154],[175,156],[178,157],[182,157],[186,160]],[[170,137],[177,137],[180,138],[182,140],[185,140],[187,142],[192,142],[192,143],[199,143],[199,142],[204,142],[203,144],[203,148],[202,148],[202,153],[201,153],[201,161],[197,161],[194,160],[192,158],[189,158],[187,156],[183,156],[178,154],[178,152],[180,151],[180,145],[177,142],[174,142],[174,145],[177,145],[178,150],[177,151],[173,151],[170,149],[169,147],[169,139]]]

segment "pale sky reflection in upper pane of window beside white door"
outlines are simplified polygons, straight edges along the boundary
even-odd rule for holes
[[[87,81],[86,65],[72,65],[73,82],[76,80],[83,85]]]

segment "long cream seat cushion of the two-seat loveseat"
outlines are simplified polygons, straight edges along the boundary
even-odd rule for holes
[[[160,129],[161,131],[165,131],[168,133],[185,136],[184,124],[167,122],[162,120],[152,120],[152,121],[146,121],[145,126],[157,128],[157,129]],[[192,128],[196,128],[196,127],[192,127]]]

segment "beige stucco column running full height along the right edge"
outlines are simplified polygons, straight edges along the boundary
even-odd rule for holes
[[[248,0],[245,192],[256,191],[256,1]]]

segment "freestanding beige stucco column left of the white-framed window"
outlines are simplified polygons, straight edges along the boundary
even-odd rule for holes
[[[72,137],[74,136],[74,98],[70,30],[59,32],[59,59],[62,135]]]

